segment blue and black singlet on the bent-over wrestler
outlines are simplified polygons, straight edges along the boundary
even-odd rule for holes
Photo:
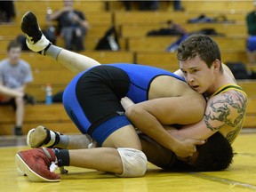
[[[124,116],[120,100],[134,103],[148,100],[148,90],[156,76],[173,76],[161,68],[137,64],[106,64],[78,74],[63,94],[68,116],[80,132],[89,134],[100,145],[117,129],[131,124]]]

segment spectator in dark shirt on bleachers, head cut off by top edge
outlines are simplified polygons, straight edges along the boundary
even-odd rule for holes
[[[48,15],[49,20],[57,20],[60,36],[64,38],[65,48],[70,51],[84,51],[84,36],[89,23],[84,13],[73,8],[73,0],[64,0],[64,7]]]

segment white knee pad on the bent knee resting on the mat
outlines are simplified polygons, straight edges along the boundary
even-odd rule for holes
[[[147,171],[147,156],[135,148],[117,148],[122,159],[124,172],[120,177],[141,177]]]

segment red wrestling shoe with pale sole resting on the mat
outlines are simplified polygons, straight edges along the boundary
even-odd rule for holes
[[[60,181],[60,174],[54,170],[57,158],[51,148],[35,148],[20,151],[16,154],[15,162],[19,175],[27,175],[29,180],[36,182]]]

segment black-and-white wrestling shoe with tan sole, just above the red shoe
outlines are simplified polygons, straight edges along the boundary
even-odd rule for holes
[[[40,125],[29,130],[27,144],[31,148],[52,148],[60,142],[60,132],[53,132]]]

